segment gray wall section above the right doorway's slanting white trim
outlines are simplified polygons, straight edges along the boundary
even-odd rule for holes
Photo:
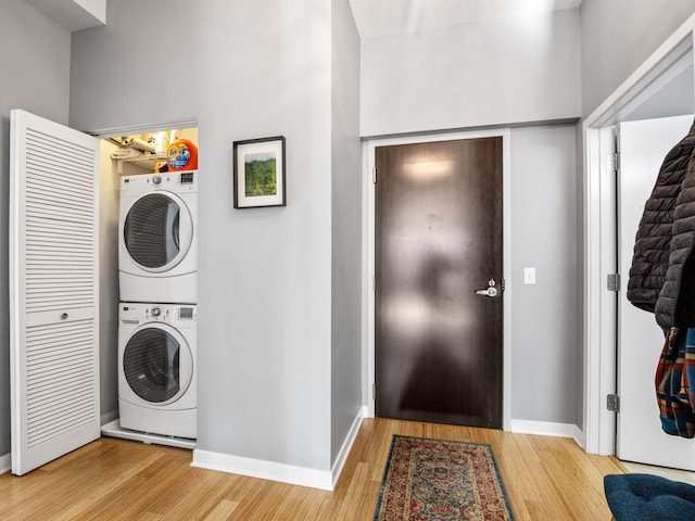
[[[695,12],[695,0],[584,0],[580,11],[587,116]]]

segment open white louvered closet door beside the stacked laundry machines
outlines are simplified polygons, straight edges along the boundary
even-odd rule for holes
[[[100,436],[99,140],[11,113],[12,472]]]

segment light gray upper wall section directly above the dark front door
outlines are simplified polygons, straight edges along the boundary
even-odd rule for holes
[[[579,10],[362,42],[362,135],[579,117]]]

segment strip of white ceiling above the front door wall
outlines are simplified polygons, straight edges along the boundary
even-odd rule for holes
[[[582,0],[350,0],[362,38],[579,7]]]

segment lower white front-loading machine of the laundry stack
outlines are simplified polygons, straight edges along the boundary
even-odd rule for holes
[[[118,318],[121,427],[195,439],[197,306],[121,303]]]

